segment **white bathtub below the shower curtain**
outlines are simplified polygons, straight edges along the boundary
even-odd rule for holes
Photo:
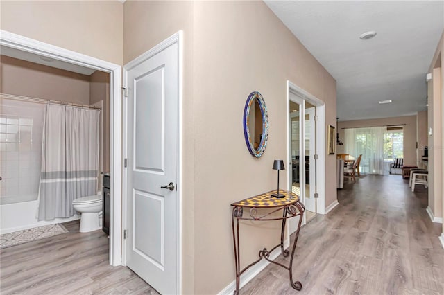
[[[49,221],[37,220],[38,201],[27,201],[12,204],[0,205],[0,234],[20,231],[22,229],[31,229],[35,226],[46,224],[55,224],[79,220],[80,215],[74,215],[69,218],[56,218]]]

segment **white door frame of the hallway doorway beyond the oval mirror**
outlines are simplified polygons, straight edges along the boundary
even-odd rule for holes
[[[311,105],[316,106],[316,116],[318,116],[316,123],[316,154],[318,154],[318,160],[316,161],[316,188],[319,194],[316,201],[316,213],[325,214],[325,102],[287,80],[287,159],[291,159],[290,93],[295,93],[309,101]],[[287,169],[287,179],[290,179],[289,169]],[[305,214],[303,218],[305,222]]]

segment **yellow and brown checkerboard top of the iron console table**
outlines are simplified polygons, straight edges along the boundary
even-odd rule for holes
[[[238,202],[234,202],[231,206],[236,207],[254,207],[254,208],[272,208],[280,206],[288,206],[298,202],[299,197],[295,193],[288,190],[279,190],[279,193],[284,195],[282,198],[273,197],[271,194],[278,193],[278,190],[271,190],[271,192],[249,197]]]

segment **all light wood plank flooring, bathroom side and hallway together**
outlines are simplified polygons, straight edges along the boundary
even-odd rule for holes
[[[425,188],[411,193],[400,175],[368,175],[338,195],[334,211],[300,231],[293,278],[302,290],[270,265],[241,294],[444,294],[441,224],[425,211]],[[0,294],[157,294],[130,269],[108,265],[105,233],[64,225],[69,233],[0,250]]]

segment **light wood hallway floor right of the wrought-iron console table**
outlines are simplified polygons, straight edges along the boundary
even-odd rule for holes
[[[288,271],[269,265],[241,294],[443,294],[441,224],[425,211],[423,186],[412,193],[400,175],[367,175],[345,181],[338,202],[300,231],[293,266],[300,292]]]

